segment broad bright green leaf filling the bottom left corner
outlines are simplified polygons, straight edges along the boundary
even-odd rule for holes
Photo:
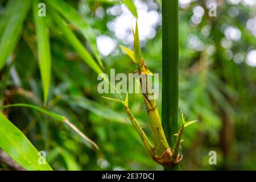
[[[0,113],[0,148],[3,149],[16,163],[27,170],[51,171],[48,163],[39,164],[38,150],[27,137]]]

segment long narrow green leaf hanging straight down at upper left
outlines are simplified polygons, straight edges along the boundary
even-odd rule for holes
[[[33,1],[39,68],[43,81],[44,105],[46,105],[49,94],[49,86],[51,84],[51,50],[48,29],[46,26],[47,16],[38,16],[38,4],[38,0]]]

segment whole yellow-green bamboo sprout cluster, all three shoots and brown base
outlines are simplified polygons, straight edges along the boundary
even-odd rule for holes
[[[180,143],[183,141],[181,140],[181,137],[182,137],[184,127],[187,127],[188,125],[191,125],[196,121],[185,122],[185,118],[182,114],[183,122],[180,127],[180,130],[178,131],[177,134],[175,134],[177,135],[176,142],[175,142],[174,148],[171,149],[170,145],[167,142],[166,135],[164,134],[162,122],[159,117],[158,107],[156,105],[155,99],[154,98],[150,99],[152,98],[150,96],[153,96],[154,94],[152,92],[151,81],[148,78],[148,75],[152,75],[152,73],[148,70],[147,64],[142,57],[137,22],[136,22],[135,32],[133,31],[133,35],[134,35],[134,51],[131,51],[130,49],[123,46],[121,46],[121,48],[125,53],[127,53],[127,55],[131,57],[133,62],[137,64],[138,73],[140,76],[139,85],[141,86],[141,90],[144,90],[144,92],[141,92],[141,94],[143,96],[144,105],[146,106],[148,119],[150,121],[154,147],[148,140],[146,134],[144,134],[144,131],[141,129],[141,126],[139,126],[137,120],[135,119],[134,115],[131,113],[131,110],[129,109],[128,94],[126,94],[125,101],[123,101],[121,97],[120,97],[120,100],[117,100],[114,98],[108,98],[108,97],[104,97],[104,98],[118,102],[123,105],[127,115],[131,120],[131,123],[137,130],[137,133],[141,137],[144,146],[147,148],[148,152],[150,153],[152,158],[155,160],[155,162],[162,164],[162,166],[164,167],[173,167],[179,164],[182,159],[182,155],[179,154],[179,147],[180,147]],[[146,84],[143,84],[143,78],[146,80]]]

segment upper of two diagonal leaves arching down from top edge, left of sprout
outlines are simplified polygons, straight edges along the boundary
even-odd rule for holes
[[[98,63],[103,68],[103,63],[100,58],[100,53],[97,49],[96,36],[92,30],[92,27],[86,22],[86,20],[79,14],[72,6],[63,0],[47,0],[49,5],[54,9],[59,11],[61,15],[65,17],[69,22],[74,24],[79,31],[84,35],[85,39],[88,41],[90,48],[92,49],[94,56],[96,57]]]

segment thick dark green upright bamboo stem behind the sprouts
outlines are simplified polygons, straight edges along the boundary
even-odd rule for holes
[[[178,113],[179,79],[179,4],[178,0],[162,1],[163,31],[163,88],[162,88],[162,125],[168,144],[175,145]]]

